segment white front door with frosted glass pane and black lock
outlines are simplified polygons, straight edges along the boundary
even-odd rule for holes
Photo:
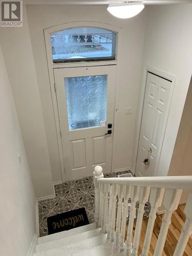
[[[92,176],[96,165],[110,173],[116,66],[54,69],[54,77],[66,180]]]

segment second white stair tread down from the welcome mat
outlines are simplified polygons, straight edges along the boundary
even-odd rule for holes
[[[36,252],[46,251],[46,250],[50,250],[50,249],[54,249],[62,246],[69,246],[70,244],[74,244],[82,240],[99,236],[99,234],[102,234],[101,228],[92,229],[83,233],[77,233],[67,238],[61,238],[56,241],[51,241],[51,242],[36,245]]]

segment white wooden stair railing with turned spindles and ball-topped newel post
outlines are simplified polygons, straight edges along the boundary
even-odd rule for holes
[[[103,178],[102,167],[96,166],[93,180],[95,185],[96,227],[101,227],[101,231],[107,233],[109,242],[112,242],[115,246],[113,253],[124,251],[125,256],[138,255],[146,202],[150,202],[151,212],[140,256],[148,255],[157,209],[163,203],[165,213],[154,251],[155,256],[162,255],[172,214],[178,207],[182,190],[189,190],[190,193],[184,209],[186,221],[174,252],[174,256],[183,255],[192,230],[192,176]],[[131,213],[126,232],[127,205],[130,199]],[[133,239],[137,201],[139,201],[139,209]],[[127,233],[126,240],[125,232]]]

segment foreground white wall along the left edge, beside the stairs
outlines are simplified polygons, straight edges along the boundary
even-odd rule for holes
[[[0,255],[26,256],[36,233],[35,194],[1,47],[0,91]]]

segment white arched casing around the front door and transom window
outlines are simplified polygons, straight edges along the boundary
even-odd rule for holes
[[[66,30],[70,28],[77,28],[77,27],[97,27],[103,28],[107,30],[111,30],[117,33],[117,42],[116,42],[116,58],[115,60],[108,60],[108,61],[89,61],[89,62],[73,62],[73,63],[53,63],[52,59],[52,50],[51,50],[51,40],[50,35],[52,33],[56,33],[61,30]],[[91,21],[82,21],[82,22],[72,22],[72,23],[64,23],[58,26],[54,26],[51,28],[44,29],[44,36],[45,36],[45,45],[46,45],[46,53],[47,53],[47,62],[48,62],[48,72],[49,72],[49,80],[50,80],[50,89],[51,89],[51,96],[52,96],[52,103],[53,103],[53,111],[55,117],[55,126],[56,126],[56,134],[57,134],[57,143],[58,143],[58,151],[59,151],[59,160],[60,160],[60,169],[61,169],[61,177],[62,182],[66,181],[65,176],[65,163],[64,163],[64,155],[63,151],[65,150],[61,140],[61,129],[60,129],[60,122],[59,122],[59,113],[58,113],[58,106],[57,106],[57,98],[56,98],[56,84],[54,78],[54,68],[72,68],[72,67],[91,67],[91,66],[107,66],[107,65],[117,65],[117,78],[116,82],[119,80],[119,63],[121,58],[121,43],[122,43],[122,28],[113,26],[110,24],[105,23],[98,23],[98,22],[91,22]],[[117,92],[117,86],[116,86]],[[115,110],[118,109],[117,106],[117,93],[115,93]],[[114,112],[116,113],[116,112]],[[112,170],[115,169],[115,162],[114,162],[114,155],[115,155],[115,140],[116,140],[116,115],[114,114],[114,133],[113,133],[113,151],[112,151]]]

